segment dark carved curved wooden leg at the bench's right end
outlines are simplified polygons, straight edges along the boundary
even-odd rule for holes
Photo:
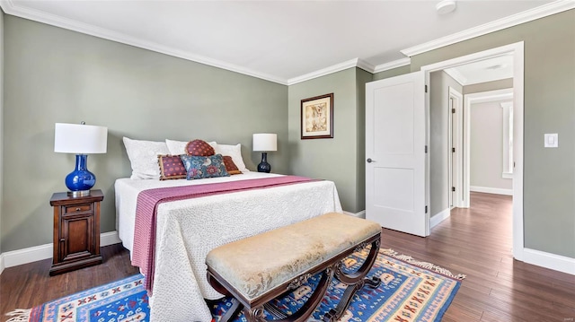
[[[366,246],[367,245],[365,244],[359,245],[358,248],[356,248],[356,251],[366,248]],[[379,277],[372,276],[371,278],[365,278],[367,273],[369,273],[371,267],[376,262],[378,251],[379,251],[379,239],[374,240],[371,243],[371,248],[369,249],[369,255],[367,256],[363,265],[359,267],[357,272],[352,274],[343,273],[343,271],[341,271],[341,262],[338,263],[335,271],[335,276],[338,280],[341,281],[341,283],[346,283],[348,285],[348,288],[345,290],[345,292],[343,292],[341,300],[338,302],[338,305],[335,307],[335,309],[330,309],[329,312],[323,315],[324,322],[333,322],[340,319],[345,310],[348,308],[349,303],[353,299],[353,295],[355,295],[356,292],[361,290],[364,287],[364,285],[367,284],[367,286],[371,288],[376,288],[379,286],[379,284],[381,283]]]

